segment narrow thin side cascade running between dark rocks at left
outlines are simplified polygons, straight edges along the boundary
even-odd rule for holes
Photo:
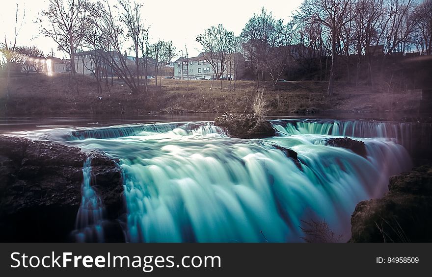
[[[73,232],[77,242],[104,241],[105,207],[101,199],[91,187],[91,159],[87,158],[82,168],[81,205],[78,210]]]

